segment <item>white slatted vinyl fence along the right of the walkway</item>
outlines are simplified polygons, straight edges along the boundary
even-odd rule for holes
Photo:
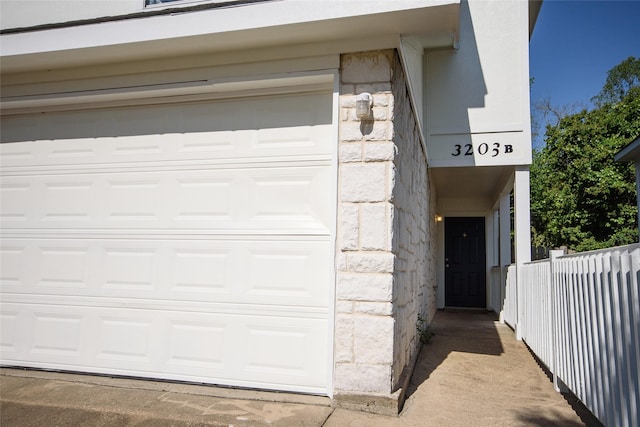
[[[504,320],[604,425],[640,425],[640,244],[521,269],[508,269]]]

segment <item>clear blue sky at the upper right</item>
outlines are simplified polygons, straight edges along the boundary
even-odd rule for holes
[[[640,0],[544,0],[529,48],[532,102],[589,107],[608,70],[640,58]]]

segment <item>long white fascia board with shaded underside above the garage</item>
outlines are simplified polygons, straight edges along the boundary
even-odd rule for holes
[[[261,2],[6,33],[0,36],[0,57],[3,71],[12,72],[27,66],[59,67],[380,35],[441,35],[457,31],[459,3],[460,0]]]

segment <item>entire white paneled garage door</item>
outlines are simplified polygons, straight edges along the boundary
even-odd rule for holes
[[[4,365],[326,393],[332,94],[7,116]]]

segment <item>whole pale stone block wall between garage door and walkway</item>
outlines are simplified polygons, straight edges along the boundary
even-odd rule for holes
[[[362,92],[373,95],[373,120],[355,115]],[[396,51],[342,56],[339,132],[335,401],[397,412],[419,348],[418,314],[435,313],[436,238],[434,191]]]

